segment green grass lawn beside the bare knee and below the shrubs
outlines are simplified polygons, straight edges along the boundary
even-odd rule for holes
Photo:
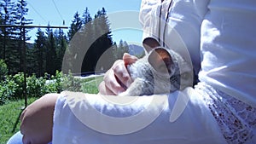
[[[103,80],[103,77],[86,78],[83,81],[82,90],[84,93],[97,94],[98,84]],[[28,98],[28,104],[36,101],[37,98]],[[24,107],[24,100],[9,101],[0,106],[0,144],[6,144],[9,138],[20,130],[20,112],[21,107]],[[18,122],[16,124],[16,122]]]

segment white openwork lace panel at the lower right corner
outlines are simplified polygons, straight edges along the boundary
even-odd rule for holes
[[[200,83],[195,86],[216,118],[220,130],[228,143],[241,144],[252,139],[256,124],[256,108]]]

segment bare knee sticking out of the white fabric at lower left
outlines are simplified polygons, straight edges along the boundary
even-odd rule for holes
[[[53,114],[58,94],[42,96],[26,107],[20,117],[20,132],[25,144],[43,144],[52,140]]]

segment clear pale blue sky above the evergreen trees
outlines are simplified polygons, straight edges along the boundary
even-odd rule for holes
[[[62,26],[63,20],[65,20],[65,26],[70,26],[73,20],[73,15],[78,11],[82,14],[87,7],[92,17],[96,14],[97,10],[104,7],[107,10],[107,14],[116,15],[122,11],[136,11],[140,9],[140,0],[26,0],[29,9],[27,18],[33,20],[33,25],[47,26],[48,23],[51,26]],[[56,7],[56,8],[55,8]],[[115,16],[116,17],[116,16]],[[125,23],[137,23],[138,20],[119,20],[119,18],[110,20],[111,26],[118,21]],[[133,28],[120,28],[117,30],[111,27],[113,30],[113,40],[119,42],[119,39],[123,39],[129,42],[140,43],[142,38],[142,31],[135,30]],[[32,30],[30,35],[32,38],[35,36],[37,29]]]

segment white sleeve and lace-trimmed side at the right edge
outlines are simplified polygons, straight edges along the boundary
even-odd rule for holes
[[[256,2],[212,0],[208,9],[197,88],[208,89],[203,96],[229,143],[256,143]]]

